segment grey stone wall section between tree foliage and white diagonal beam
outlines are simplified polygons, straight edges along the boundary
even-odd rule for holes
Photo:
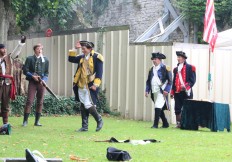
[[[163,0],[110,0],[105,13],[94,20],[93,26],[129,25],[130,41],[134,41],[163,13]]]

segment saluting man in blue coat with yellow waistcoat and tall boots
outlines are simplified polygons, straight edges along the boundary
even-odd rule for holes
[[[94,44],[92,42],[77,42],[75,48],[81,48],[83,53],[77,55],[76,51],[70,51],[68,57],[69,62],[78,64],[73,81],[75,98],[78,102],[81,102],[82,127],[78,131],[88,131],[89,113],[97,122],[96,131],[100,131],[103,120],[96,110],[96,102],[102,79],[104,59],[101,54],[93,50]]]

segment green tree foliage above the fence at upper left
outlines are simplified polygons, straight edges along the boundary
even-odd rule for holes
[[[39,17],[48,20],[51,28],[64,30],[72,21],[73,6],[84,5],[84,0],[12,0],[12,8],[16,14],[17,25],[22,31],[36,24]],[[40,23],[40,22],[38,22]]]

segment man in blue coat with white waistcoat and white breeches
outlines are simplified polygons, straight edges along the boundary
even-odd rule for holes
[[[153,66],[149,70],[146,82],[145,96],[151,93],[151,99],[155,104],[154,124],[151,128],[158,128],[159,118],[163,122],[162,128],[168,128],[169,124],[164,110],[169,109],[168,94],[172,86],[172,73],[170,68],[162,63],[166,56],[160,52],[152,53]]]

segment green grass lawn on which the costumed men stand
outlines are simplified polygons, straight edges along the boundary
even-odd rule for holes
[[[80,116],[42,117],[42,127],[21,127],[22,117],[10,117],[14,126],[10,136],[0,136],[0,157],[24,157],[25,148],[39,150],[45,157],[59,157],[70,161],[69,155],[88,158],[89,161],[107,161],[109,146],[126,150],[136,162],[206,162],[232,161],[232,133],[210,132],[209,129],[186,131],[173,128],[151,129],[151,122],[104,117],[104,127],[95,132],[95,121],[90,118],[89,131],[75,132],[81,126]],[[157,139],[161,143],[132,145],[96,143],[115,137],[126,139]]]

